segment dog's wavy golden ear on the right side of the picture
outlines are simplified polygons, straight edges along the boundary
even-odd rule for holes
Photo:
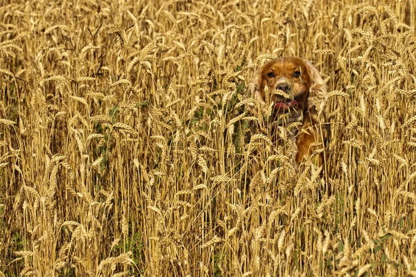
[[[307,60],[304,60],[304,63],[311,77],[306,111],[309,112],[313,121],[318,123],[320,115],[324,114],[324,107],[327,102],[327,86],[324,84],[318,69],[315,69],[315,66]]]

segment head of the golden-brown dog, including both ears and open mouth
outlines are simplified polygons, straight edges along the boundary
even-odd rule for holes
[[[262,105],[268,104],[266,86],[274,105],[273,115],[288,114],[288,122],[300,121],[306,113],[315,117],[316,101],[326,95],[318,70],[300,57],[279,57],[259,69],[248,89]]]

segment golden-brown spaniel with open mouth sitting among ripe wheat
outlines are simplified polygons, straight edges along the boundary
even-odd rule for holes
[[[322,141],[318,137],[322,134],[319,124],[327,96],[327,87],[315,66],[300,57],[270,60],[254,76],[248,91],[262,107],[272,108],[270,115],[277,125],[302,122],[300,129],[291,132],[297,148],[295,161],[300,164],[304,158],[311,157],[315,146]],[[322,165],[323,153],[315,156],[318,165]]]

